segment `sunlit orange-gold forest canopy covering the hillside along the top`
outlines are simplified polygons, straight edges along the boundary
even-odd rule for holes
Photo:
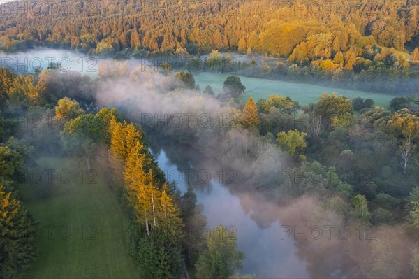
[[[3,3],[6,50],[34,45],[87,52],[126,48],[191,53],[253,51],[288,57],[309,37],[335,52],[419,43],[417,2],[403,1],[17,1]]]

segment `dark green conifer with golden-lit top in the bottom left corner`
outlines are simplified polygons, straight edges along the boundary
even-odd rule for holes
[[[0,184],[0,277],[17,278],[36,257],[36,224]]]

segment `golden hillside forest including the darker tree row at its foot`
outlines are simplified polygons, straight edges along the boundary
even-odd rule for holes
[[[1,7],[0,50],[9,52],[46,46],[116,59],[199,59],[212,50],[237,51],[283,58],[234,65],[250,76],[417,90],[419,17],[410,0],[24,1]]]

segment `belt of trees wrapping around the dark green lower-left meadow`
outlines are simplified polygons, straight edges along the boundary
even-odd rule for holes
[[[244,253],[237,249],[234,233],[219,226],[207,238],[186,234],[188,228],[206,225],[193,189],[180,194],[166,181],[141,127],[126,122],[115,108],[94,106],[91,80],[72,75],[45,69],[16,76],[0,69],[0,277],[24,276],[37,257],[37,222],[20,201],[24,169],[35,166],[41,154],[78,157],[90,169],[89,159],[106,150],[108,183],[130,217],[127,252],[137,262],[140,278],[179,278],[183,261],[201,277],[239,278],[235,271],[242,267]],[[32,113],[43,120],[22,123]],[[42,184],[34,187],[45,198],[48,187]]]

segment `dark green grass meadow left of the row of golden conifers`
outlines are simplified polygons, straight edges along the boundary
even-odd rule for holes
[[[92,162],[94,178],[77,159],[44,157],[38,164],[41,171],[45,166],[57,171],[46,196],[37,193],[36,178],[20,186],[25,205],[39,222],[39,257],[25,278],[138,278],[128,255],[128,217],[105,183],[103,166]],[[71,173],[68,183],[61,170]]]

